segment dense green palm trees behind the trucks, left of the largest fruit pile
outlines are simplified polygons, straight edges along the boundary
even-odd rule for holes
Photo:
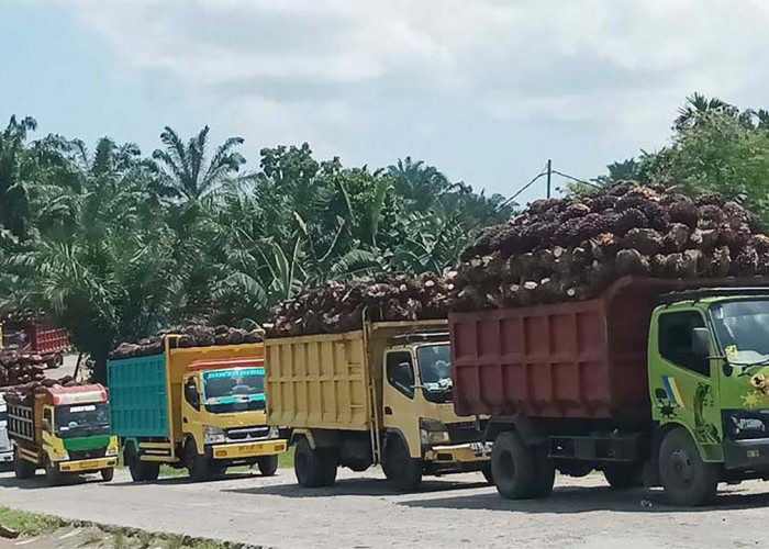
[[[103,380],[107,354],[191,321],[254,327],[308,287],[450,268],[503,198],[452,184],[411,158],[377,171],[319,161],[310,146],[260,152],[170,127],[134,144],[0,133],[0,314],[38,309],[69,329]]]

